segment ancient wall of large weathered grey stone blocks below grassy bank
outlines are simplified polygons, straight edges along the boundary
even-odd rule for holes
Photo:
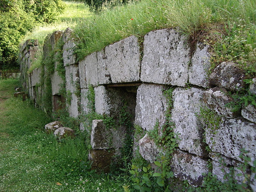
[[[56,33],[48,39],[56,38]],[[236,173],[240,173],[238,164],[243,162],[239,156],[242,148],[248,151],[246,156],[251,158],[249,165],[253,166],[252,162],[256,159],[256,108],[249,104],[233,112],[226,105],[232,101],[226,93],[245,86],[243,80],[246,76],[235,63],[223,62],[210,72],[210,46],[198,42],[196,47],[191,47],[188,37],[174,29],[146,34],[143,52],[140,52],[138,38],[131,36],[77,61],[74,54],[76,42],[71,33],[69,28],[64,33],[58,32],[64,42],[66,91],[71,96],[71,102],[66,105],[70,116],[79,117],[81,113],[90,112],[86,98],[90,86],[94,87],[95,111],[99,114],[117,119],[124,103],[128,103],[127,110],[132,114],[130,121],[144,130],[141,138],[134,138],[138,140],[134,142],[134,149],[138,148],[141,156],[150,163],[157,160],[161,149],[156,147],[147,132],[156,124],[161,132],[167,121],[166,116],[171,116],[175,124],[173,131],[180,140],[170,164],[175,177],[188,180],[194,186],[202,184],[207,172],[224,181],[221,168],[228,170],[233,167]],[[50,44],[54,45],[54,42],[50,41]],[[29,58],[33,57],[32,48],[36,48],[36,43],[31,47],[28,41],[20,49],[24,78],[24,71],[30,66]],[[35,69],[29,75],[28,82],[23,84],[33,99],[41,70]],[[54,106],[56,100],[61,100],[58,92],[62,82],[56,69],[51,79]],[[164,90],[170,87],[174,89],[171,110],[164,95]],[[255,87],[254,78],[250,85],[253,94],[256,93]],[[42,89],[40,86],[37,88],[38,92]],[[209,115],[210,119],[206,119]],[[213,123],[210,122],[212,119]],[[108,129],[100,119],[92,124],[90,158],[95,167],[107,166],[111,156],[120,155],[126,128]],[[102,165],[97,160],[103,157],[106,161]],[[220,159],[223,159],[225,166],[220,164]],[[212,163],[211,169],[209,162]],[[256,182],[250,166],[246,174],[250,175],[251,187],[255,191]],[[244,182],[244,174],[237,176],[239,183]]]

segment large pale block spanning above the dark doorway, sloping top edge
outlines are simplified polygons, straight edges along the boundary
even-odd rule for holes
[[[113,83],[140,80],[140,48],[138,38],[130,36],[105,48],[107,70]]]

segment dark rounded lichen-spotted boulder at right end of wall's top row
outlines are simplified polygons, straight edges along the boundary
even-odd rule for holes
[[[233,62],[222,62],[210,75],[210,84],[236,91],[244,87],[246,76]]]

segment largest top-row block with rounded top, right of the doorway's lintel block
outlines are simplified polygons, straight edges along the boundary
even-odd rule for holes
[[[144,36],[141,81],[185,86],[190,48],[187,37],[174,29],[151,31]]]

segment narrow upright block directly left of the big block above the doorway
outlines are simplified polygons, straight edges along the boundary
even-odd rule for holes
[[[98,60],[98,83],[99,84],[110,84],[112,83],[110,73],[108,71],[107,62],[106,62],[105,51],[101,50],[97,52]]]

